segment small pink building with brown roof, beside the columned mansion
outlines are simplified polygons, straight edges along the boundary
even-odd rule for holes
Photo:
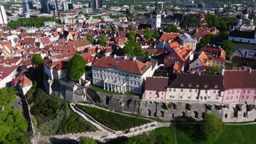
[[[165,100],[168,77],[147,77],[145,97],[149,100]]]

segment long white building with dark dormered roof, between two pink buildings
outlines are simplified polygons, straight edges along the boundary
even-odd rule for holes
[[[222,103],[223,75],[178,74],[167,87],[166,100]]]

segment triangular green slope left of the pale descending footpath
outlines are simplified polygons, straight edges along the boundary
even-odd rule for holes
[[[65,117],[59,125],[57,134],[67,134],[67,133],[81,133],[85,131],[96,131],[97,128],[85,121],[84,118],[70,111],[69,115]]]

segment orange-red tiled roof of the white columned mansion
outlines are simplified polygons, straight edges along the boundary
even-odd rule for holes
[[[102,57],[97,62],[92,64],[94,67],[100,68],[112,68],[118,67],[119,69],[126,71],[127,73],[142,75],[152,65],[150,62],[142,63],[138,60],[132,61],[131,59],[114,58],[114,57]]]

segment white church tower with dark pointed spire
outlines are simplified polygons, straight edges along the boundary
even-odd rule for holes
[[[151,28],[161,27],[161,14],[158,11],[158,0],[155,1],[155,10],[151,14]]]

